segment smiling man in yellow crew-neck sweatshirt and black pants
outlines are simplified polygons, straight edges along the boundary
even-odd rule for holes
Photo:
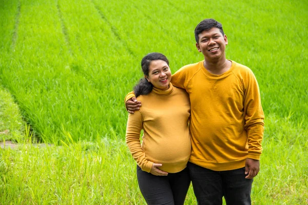
[[[189,94],[191,155],[187,164],[198,204],[251,204],[258,174],[264,114],[253,72],[225,57],[222,25],[204,19],[195,29],[204,60],[184,66],[171,83]],[[127,95],[129,112],[141,102]]]

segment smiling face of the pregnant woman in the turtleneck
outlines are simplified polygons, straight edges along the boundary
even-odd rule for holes
[[[149,66],[149,76],[145,78],[156,88],[167,90],[171,80],[171,71],[164,60],[152,60]]]

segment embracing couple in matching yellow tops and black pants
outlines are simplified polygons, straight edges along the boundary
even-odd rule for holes
[[[219,22],[202,20],[195,38],[204,60],[171,75],[166,56],[149,53],[125,98],[141,193],[148,204],[184,204],[191,181],[198,204],[251,204],[264,131],[257,80],[226,59]]]

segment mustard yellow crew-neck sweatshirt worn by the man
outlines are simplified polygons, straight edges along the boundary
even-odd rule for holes
[[[171,78],[190,98],[189,161],[215,171],[242,168],[246,158],[260,159],[262,153],[264,114],[257,80],[235,61],[221,75],[209,73],[203,63],[184,66]]]

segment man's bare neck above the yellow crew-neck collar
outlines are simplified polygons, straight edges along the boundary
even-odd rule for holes
[[[207,61],[205,59],[203,65],[208,72],[214,75],[220,75],[228,71],[231,68],[232,63],[225,58],[217,61]]]

